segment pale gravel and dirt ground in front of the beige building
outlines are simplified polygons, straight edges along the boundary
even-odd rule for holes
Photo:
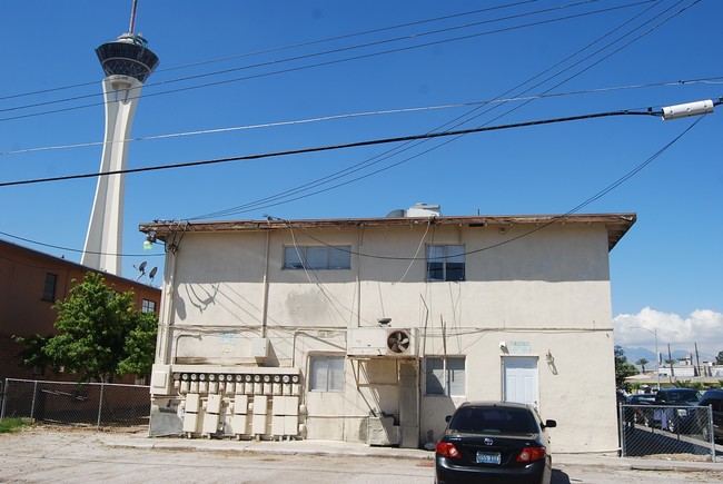
[[[432,453],[418,451],[394,457],[364,455],[364,446],[344,453],[249,452],[252,445],[224,441],[146,438],[145,428],[97,431],[37,426],[0,435],[0,482],[235,482],[304,484],[432,484]],[[220,451],[229,447],[229,450]],[[283,446],[279,445],[278,448]],[[294,448],[294,446],[290,446]],[[287,451],[289,446],[285,447]],[[308,448],[308,447],[307,447]],[[413,455],[414,454],[414,455]],[[584,456],[558,460],[553,484],[721,483],[723,465],[714,470],[684,470],[645,465],[631,467],[620,460],[611,465]]]

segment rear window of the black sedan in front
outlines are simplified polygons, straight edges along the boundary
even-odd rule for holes
[[[465,407],[449,422],[449,429],[465,433],[534,434],[539,432],[526,408]]]

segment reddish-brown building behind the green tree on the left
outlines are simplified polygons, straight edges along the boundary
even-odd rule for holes
[[[57,333],[53,305],[70,296],[73,279],[82,281],[90,269],[80,264],[0,240],[0,381],[6,378],[73,379],[75,375],[42,374],[21,365],[22,345],[12,336],[48,336]],[[138,310],[157,312],[160,289],[103,273],[106,284],[125,293],[133,290]]]

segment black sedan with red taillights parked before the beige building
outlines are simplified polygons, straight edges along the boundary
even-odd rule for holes
[[[435,450],[435,483],[549,483],[547,428],[557,424],[543,421],[534,406],[464,403],[446,419]]]

